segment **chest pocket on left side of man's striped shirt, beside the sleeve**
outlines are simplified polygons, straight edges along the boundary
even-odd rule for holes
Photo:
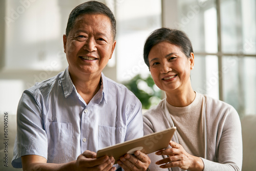
[[[51,122],[48,137],[49,163],[65,163],[72,160],[73,130],[71,123]]]

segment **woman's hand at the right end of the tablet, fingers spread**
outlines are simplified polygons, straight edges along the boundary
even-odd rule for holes
[[[204,163],[201,158],[188,154],[178,143],[170,141],[172,148],[162,149],[156,155],[167,155],[168,157],[156,162],[161,168],[180,167],[181,169],[203,170]]]

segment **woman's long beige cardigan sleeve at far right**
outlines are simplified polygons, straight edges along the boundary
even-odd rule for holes
[[[203,171],[241,170],[242,168],[242,132],[237,111],[231,108],[219,123],[221,138],[216,149],[218,162],[201,158],[204,162]]]

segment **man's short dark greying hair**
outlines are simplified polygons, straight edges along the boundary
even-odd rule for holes
[[[112,29],[112,34],[113,34],[113,39],[116,37],[116,19],[112,11],[109,9],[108,6],[97,2],[97,1],[89,1],[83,4],[78,5],[75,7],[70,15],[69,15],[69,20],[66,28],[66,35],[69,35],[70,30],[73,28],[76,18],[79,15],[82,14],[103,14],[106,15],[110,18],[111,22],[111,29]]]

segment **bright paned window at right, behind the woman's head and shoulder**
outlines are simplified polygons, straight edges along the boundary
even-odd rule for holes
[[[193,89],[231,104],[240,117],[256,114],[256,2],[163,0],[162,4],[163,26],[185,31],[192,41]]]

